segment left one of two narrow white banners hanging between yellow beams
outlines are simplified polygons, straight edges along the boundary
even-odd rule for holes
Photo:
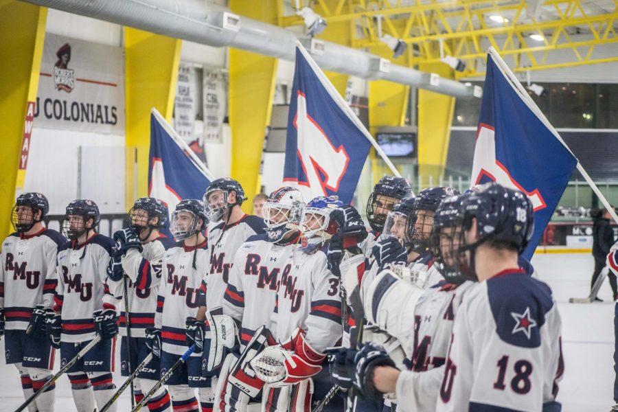
[[[195,67],[181,62],[174,100],[174,130],[187,144],[194,140],[196,92]]]

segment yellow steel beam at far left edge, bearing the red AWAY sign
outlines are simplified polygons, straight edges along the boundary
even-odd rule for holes
[[[0,0],[0,56],[9,58],[6,64],[0,67],[2,238],[10,231],[15,194],[23,191],[46,21],[47,8],[21,1]]]

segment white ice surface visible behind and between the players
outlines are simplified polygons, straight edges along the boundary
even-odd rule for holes
[[[608,282],[599,293],[604,302],[569,304],[569,297],[588,295],[593,271],[591,255],[540,254],[532,263],[553,289],[562,314],[565,372],[558,394],[562,411],[609,411],[613,404],[614,306]],[[3,343],[1,348],[4,351]],[[58,363],[57,359],[56,365]],[[116,385],[122,382],[119,374],[115,374],[115,382]],[[128,393],[127,390],[120,398],[118,411],[130,410]],[[3,363],[0,365],[0,399],[0,411],[13,411],[23,402],[16,369]],[[69,380],[61,377],[57,383],[56,411],[74,410]]]

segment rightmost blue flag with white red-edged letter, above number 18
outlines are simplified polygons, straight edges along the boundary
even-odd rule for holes
[[[534,233],[525,258],[533,255],[576,165],[577,159],[488,54],[472,183],[497,181],[528,195],[534,207]]]

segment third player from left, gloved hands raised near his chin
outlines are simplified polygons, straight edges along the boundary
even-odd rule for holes
[[[107,283],[118,299],[120,312],[120,371],[129,376],[150,352],[146,346],[146,328],[155,326],[157,294],[161,283],[161,264],[165,250],[174,242],[159,233],[168,220],[168,208],[156,198],[139,198],[129,211],[130,227],[114,233],[117,248],[107,271]],[[128,279],[123,275],[126,274]],[[126,294],[125,294],[126,288]],[[124,302],[124,297],[128,298]],[[127,318],[124,308],[128,307]],[[127,319],[130,333],[127,333]],[[130,338],[129,336],[130,335]],[[130,342],[129,342],[130,339]],[[159,359],[153,358],[133,381],[135,402],[144,398],[160,377]],[[148,400],[150,412],[171,411],[171,400],[161,387]]]

